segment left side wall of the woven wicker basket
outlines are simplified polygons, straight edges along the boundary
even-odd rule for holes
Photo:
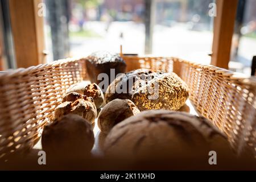
[[[29,150],[65,89],[85,80],[84,59],[66,59],[0,75],[0,158]]]

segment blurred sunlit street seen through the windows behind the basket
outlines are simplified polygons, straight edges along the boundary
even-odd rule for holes
[[[149,6],[147,0],[45,2],[48,61],[99,50],[119,53],[122,44],[124,53],[210,63],[213,17],[208,13],[213,0],[154,0]],[[256,55],[256,1],[240,0],[238,6],[229,67],[250,75]]]

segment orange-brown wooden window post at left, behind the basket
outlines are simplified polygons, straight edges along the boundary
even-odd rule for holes
[[[42,2],[42,0],[9,0],[18,68],[46,63],[44,17],[38,14],[38,5]]]

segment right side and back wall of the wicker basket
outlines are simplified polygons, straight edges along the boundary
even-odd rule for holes
[[[151,68],[175,72],[189,87],[189,99],[197,112],[224,132],[238,154],[256,158],[256,78],[212,65],[174,57],[124,57],[128,69]],[[132,64],[131,64],[132,63]]]

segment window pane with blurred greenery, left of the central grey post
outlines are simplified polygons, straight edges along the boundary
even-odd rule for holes
[[[143,53],[143,1],[71,1],[71,55],[98,50]]]

